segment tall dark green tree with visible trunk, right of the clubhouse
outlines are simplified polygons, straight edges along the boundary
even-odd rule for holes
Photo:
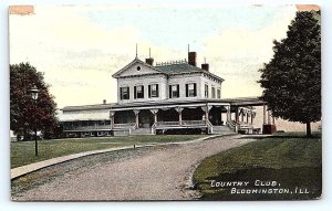
[[[307,124],[321,119],[320,12],[297,12],[287,38],[273,41],[273,59],[259,70],[262,99],[276,117]]]

